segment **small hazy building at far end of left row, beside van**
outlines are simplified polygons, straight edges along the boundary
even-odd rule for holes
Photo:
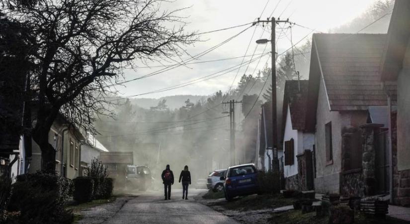
[[[99,161],[117,186],[125,186],[127,165],[134,165],[133,152],[101,152]]]

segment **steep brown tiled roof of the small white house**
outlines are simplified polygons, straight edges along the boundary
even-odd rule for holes
[[[286,80],[285,92],[283,95],[282,109],[282,133],[284,134],[288,106],[290,109],[290,119],[292,129],[304,130],[306,117],[306,100],[308,98],[309,80]],[[283,137],[283,136],[282,136]]]

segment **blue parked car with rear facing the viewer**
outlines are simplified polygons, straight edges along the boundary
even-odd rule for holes
[[[231,201],[236,196],[257,194],[257,170],[254,164],[243,164],[229,167],[226,177],[220,177],[225,180],[224,192],[225,198]]]

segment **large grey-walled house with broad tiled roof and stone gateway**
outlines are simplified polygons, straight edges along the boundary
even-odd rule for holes
[[[396,83],[380,81],[386,39],[386,34],[313,35],[305,131],[315,134],[316,192],[378,191],[375,136],[381,124],[367,124],[367,118],[369,106],[388,105],[385,90],[397,104]]]

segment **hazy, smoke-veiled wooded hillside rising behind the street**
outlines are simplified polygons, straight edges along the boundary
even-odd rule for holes
[[[331,33],[386,33],[394,1],[379,0],[359,17],[328,30]],[[388,14],[387,16],[383,16]],[[364,24],[382,17],[377,23]],[[291,51],[277,59],[277,112],[281,127],[281,109],[285,80],[309,76],[311,35]],[[293,56],[293,57],[292,57]],[[117,100],[114,117],[101,117],[95,122],[97,139],[110,151],[132,151],[134,165],[148,165],[158,183],[166,164],[170,164],[175,178],[188,165],[192,180],[205,179],[216,169],[229,166],[230,132],[229,100],[236,104],[236,164],[256,163],[256,133],[261,105],[270,101],[270,66],[265,57],[258,72],[243,75],[226,92],[209,96],[179,95],[161,99]],[[266,63],[264,63],[266,60]],[[171,99],[171,100],[170,100]],[[169,101],[169,102],[168,102]],[[172,101],[172,102],[170,102]],[[169,105],[171,104],[171,105]],[[224,113],[225,112],[225,113]]]

